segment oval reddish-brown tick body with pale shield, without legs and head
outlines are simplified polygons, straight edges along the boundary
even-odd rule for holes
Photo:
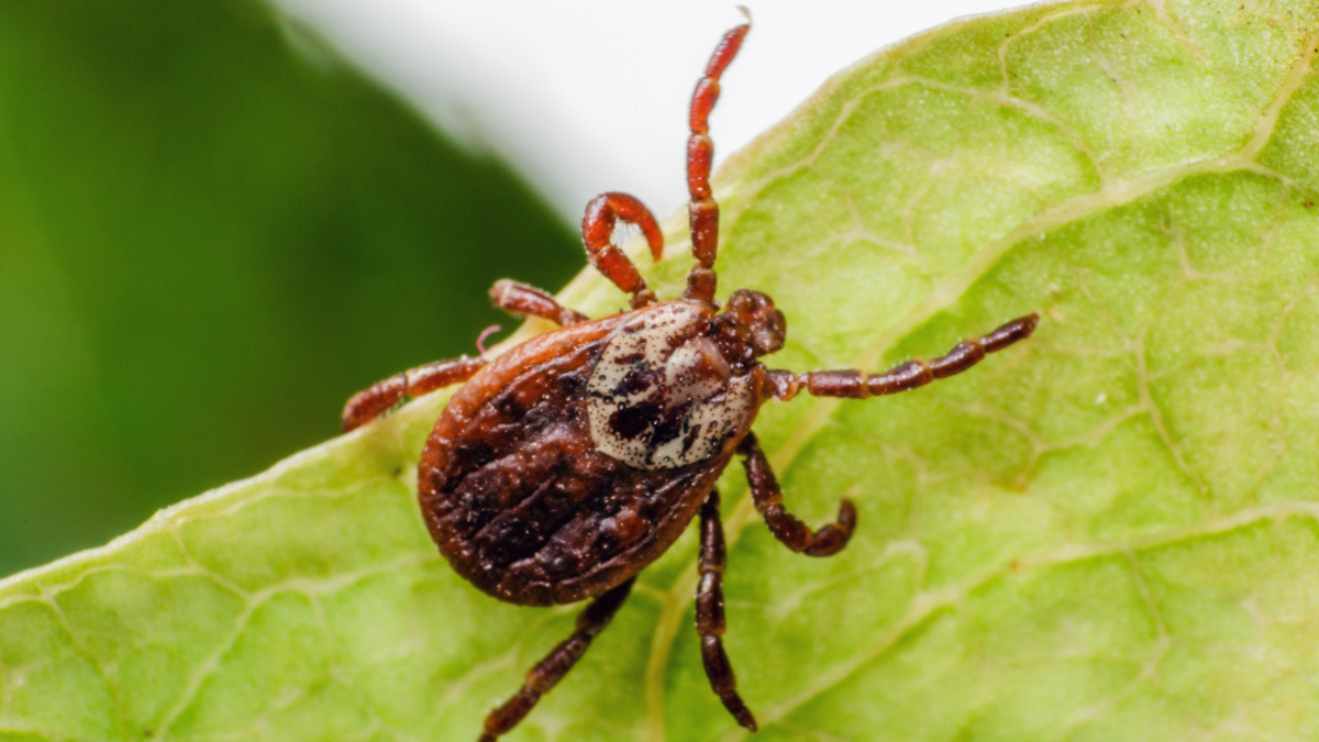
[[[689,432],[710,424],[703,417],[690,428],[707,408],[657,399],[666,393],[654,376],[706,371],[686,359],[712,316],[656,304],[547,333],[454,395],[422,453],[419,495],[431,536],[459,574],[513,603],[572,603],[624,582],[669,548],[732,457],[725,441],[754,416],[754,375],[725,384],[745,404],[711,425],[716,440],[707,453],[710,437],[695,441]],[[648,350],[667,358],[654,362]],[[714,393],[719,383],[715,375],[691,387]],[[687,442],[686,458],[702,455],[685,463],[677,449]]]

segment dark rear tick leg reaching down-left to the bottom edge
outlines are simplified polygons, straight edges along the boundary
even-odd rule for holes
[[[537,663],[532,668],[532,672],[526,673],[526,683],[522,684],[521,691],[485,717],[485,730],[481,733],[479,742],[495,742],[501,734],[508,734],[532,710],[532,706],[541,700],[541,696],[549,693],[550,688],[554,688],[559,680],[563,680],[563,676],[586,654],[591,646],[591,640],[599,636],[604,631],[604,627],[609,624],[613,614],[619,611],[619,606],[623,605],[623,601],[628,598],[628,593],[632,591],[634,581],[636,577],[611,589],[592,601],[578,615],[576,631],[558,647],[554,647],[549,655],[545,655],[545,659]]]

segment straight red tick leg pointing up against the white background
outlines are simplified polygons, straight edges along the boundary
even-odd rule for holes
[[[687,273],[687,298],[715,300],[715,256],[719,252],[719,205],[710,190],[710,166],[715,160],[715,143],[710,139],[710,111],[719,100],[719,78],[741,49],[751,24],[724,34],[706,65],[706,77],[696,81],[691,94],[691,139],[687,140],[687,205],[691,223],[691,253],[696,265]]]

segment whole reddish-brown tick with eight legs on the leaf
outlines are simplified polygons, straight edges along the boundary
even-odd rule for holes
[[[636,574],[698,512],[700,656],[715,694],[754,731],[723,648],[725,558],[715,481],[741,457],[756,510],[794,552],[835,555],[856,528],[856,508],[845,498],[838,520],[818,531],[783,507],[751,430],[760,405],[799,392],[867,399],[914,389],[960,374],[1035,329],[1038,316],[1029,314],[947,355],[882,374],[797,374],[761,364],[761,356],[783,347],[787,325],[761,292],[735,290],[723,308],[715,301],[719,206],[710,190],[708,116],[719,78],[749,28],[724,34],[691,96],[687,187],[696,264],[681,298],[660,301],[613,243],[619,222],[634,224],[658,260],[663,236],[654,215],[628,194],[605,193],[586,207],[582,242],[591,265],[632,294],[630,310],[590,320],[543,290],[499,281],[491,289],[496,306],[559,329],[493,360],[463,356],[405,371],[344,408],[343,426],[352,430],[406,397],[467,382],[435,422],[418,465],[422,515],[441,553],[501,601],[549,606],[594,598],[572,635],[489,713],[481,742],[517,726],[563,679],[627,599]]]

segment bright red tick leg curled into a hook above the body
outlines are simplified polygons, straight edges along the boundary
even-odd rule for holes
[[[656,301],[656,294],[646,288],[645,279],[628,256],[613,244],[613,227],[619,220],[641,227],[650,246],[650,256],[656,260],[663,255],[663,234],[650,210],[644,203],[625,193],[601,193],[586,205],[582,218],[582,243],[586,256],[595,269],[632,294],[632,306],[638,309]]]

